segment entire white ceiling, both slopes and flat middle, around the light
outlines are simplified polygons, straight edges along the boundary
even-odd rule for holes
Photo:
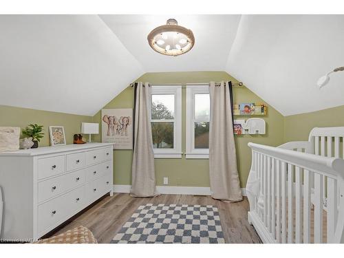
[[[175,18],[195,46],[163,56],[147,34]],[[0,15],[0,105],[92,116],[144,72],[223,71],[288,116],[344,105],[344,16]]]

